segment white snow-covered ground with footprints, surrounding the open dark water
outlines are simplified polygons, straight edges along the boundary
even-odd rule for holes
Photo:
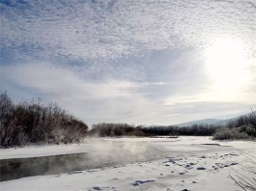
[[[1,191],[242,190],[231,177],[253,185],[256,175],[255,142],[219,142],[211,137],[98,138],[81,145],[0,151],[1,159],[87,152],[100,167],[2,181]],[[113,162],[104,163],[104,158]]]

